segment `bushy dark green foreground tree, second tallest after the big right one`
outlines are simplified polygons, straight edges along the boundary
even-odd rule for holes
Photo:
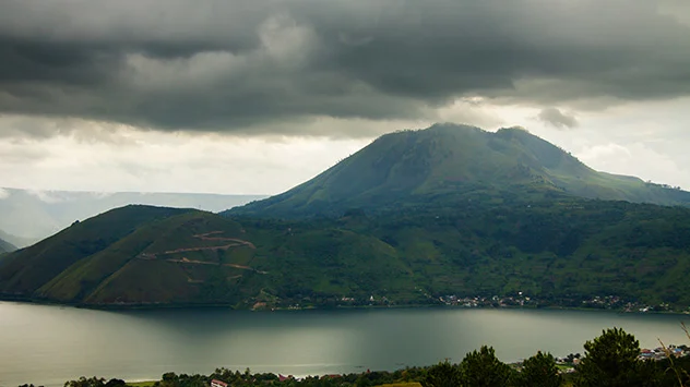
[[[501,387],[508,384],[511,368],[496,358],[493,348],[483,346],[467,353],[460,363],[463,385],[472,387]]]

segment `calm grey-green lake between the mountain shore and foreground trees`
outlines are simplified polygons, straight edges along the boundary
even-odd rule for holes
[[[505,362],[583,352],[608,327],[642,347],[687,343],[687,315],[612,312],[396,309],[108,312],[0,302],[0,386],[61,386],[85,376],[158,379],[225,366],[293,375],[428,365],[490,344]]]

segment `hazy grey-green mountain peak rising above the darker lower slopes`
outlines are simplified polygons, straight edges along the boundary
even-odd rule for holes
[[[436,124],[385,134],[306,183],[227,214],[337,216],[350,208],[395,208],[440,197],[515,195],[525,201],[567,195],[690,204],[688,192],[597,172],[522,129],[491,133],[473,126]]]

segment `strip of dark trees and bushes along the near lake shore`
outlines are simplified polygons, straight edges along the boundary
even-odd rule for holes
[[[689,335],[690,339],[690,335]],[[145,384],[127,384],[121,379],[106,380],[82,377],[70,380],[64,387],[207,387],[211,380],[222,380],[233,387],[685,387],[690,385],[690,356],[674,358],[668,351],[662,361],[640,358],[640,343],[634,336],[619,328],[584,343],[584,355],[574,365],[573,373],[561,373],[555,358],[537,352],[519,364],[505,364],[496,358],[491,347],[481,347],[465,355],[457,364],[448,360],[427,367],[407,367],[395,372],[365,372],[359,374],[292,376],[271,373],[252,374],[217,368],[211,375],[177,375],[166,373],[160,380]],[[24,385],[22,387],[33,387]]]

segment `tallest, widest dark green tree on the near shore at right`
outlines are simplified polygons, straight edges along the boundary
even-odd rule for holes
[[[640,342],[623,329],[606,329],[585,342],[585,353],[576,366],[578,387],[643,386],[646,367],[638,359]]]

